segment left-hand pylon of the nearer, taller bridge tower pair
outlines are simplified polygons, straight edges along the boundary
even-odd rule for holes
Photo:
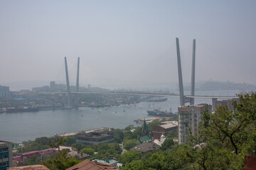
[[[177,60],[178,60],[178,89],[180,92],[181,106],[184,106],[185,102],[184,102],[183,81],[182,81],[182,72],[181,72],[181,55],[179,50],[178,38],[176,38],[176,48],[177,48]]]

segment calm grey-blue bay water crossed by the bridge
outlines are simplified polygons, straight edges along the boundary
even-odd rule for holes
[[[232,93],[232,95],[234,94]],[[167,101],[141,102],[137,103],[136,107],[132,106],[131,108],[128,106],[101,108],[101,112],[98,108],[85,107],[30,113],[1,113],[0,140],[22,142],[34,140],[36,137],[50,137],[65,132],[78,132],[95,128],[125,128],[127,125],[137,126],[140,124],[135,123],[134,120],[149,118],[146,111],[153,109],[153,107],[161,110],[172,108],[172,111],[176,113],[179,106],[178,101],[178,97],[169,97]],[[211,99],[196,98],[195,103],[211,104]]]

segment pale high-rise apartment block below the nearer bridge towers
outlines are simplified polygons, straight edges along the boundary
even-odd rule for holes
[[[208,104],[198,104],[178,107],[178,144],[186,142],[188,134],[198,132],[199,123],[203,117],[203,111],[212,111],[212,106]]]

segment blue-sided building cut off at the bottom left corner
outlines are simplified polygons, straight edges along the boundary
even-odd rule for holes
[[[0,141],[0,170],[12,166],[12,144]]]

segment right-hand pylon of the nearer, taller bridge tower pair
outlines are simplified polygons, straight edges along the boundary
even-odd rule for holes
[[[195,69],[196,69],[196,40],[193,40],[192,70],[191,70],[191,96],[195,96]],[[190,104],[194,105],[195,98],[190,98]]]

